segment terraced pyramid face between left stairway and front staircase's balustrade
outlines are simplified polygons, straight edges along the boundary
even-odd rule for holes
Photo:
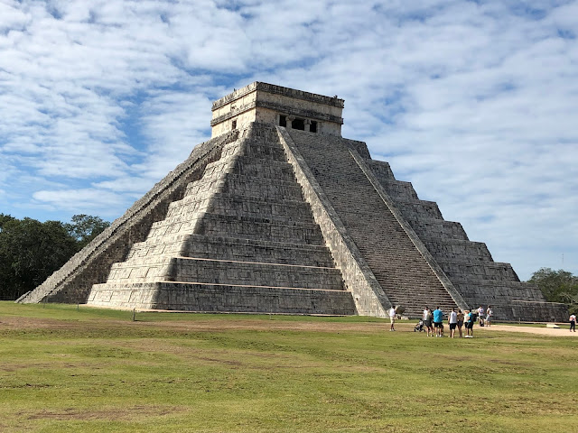
[[[90,305],[355,314],[275,129],[251,124],[189,184]]]

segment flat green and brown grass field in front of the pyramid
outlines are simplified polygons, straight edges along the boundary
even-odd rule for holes
[[[0,431],[573,432],[578,340],[0,302]]]

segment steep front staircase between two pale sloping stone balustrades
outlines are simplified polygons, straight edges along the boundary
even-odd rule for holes
[[[348,234],[394,305],[410,317],[424,306],[457,308],[424,256],[350,154],[348,141],[289,130]],[[331,159],[326,157],[331,153]]]

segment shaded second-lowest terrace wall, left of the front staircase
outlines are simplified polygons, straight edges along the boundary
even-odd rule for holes
[[[344,290],[335,268],[176,257],[172,269],[179,282]]]

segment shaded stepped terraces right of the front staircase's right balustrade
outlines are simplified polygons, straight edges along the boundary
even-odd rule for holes
[[[417,198],[411,183],[396,180],[387,162],[367,163],[471,308],[492,305],[495,318],[504,320],[564,318],[564,306],[545,302],[536,286],[519,281],[509,263],[494,262],[486,244],[470,241],[460,223],[444,220],[434,202]]]

